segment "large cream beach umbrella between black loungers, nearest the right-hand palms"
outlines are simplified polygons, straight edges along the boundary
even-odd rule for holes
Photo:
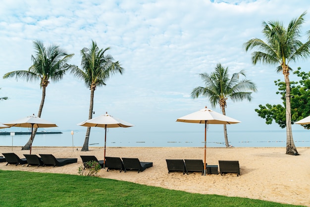
[[[194,113],[182,116],[176,121],[205,124],[205,160],[204,160],[204,173],[206,175],[206,156],[207,156],[207,125],[208,124],[237,124],[241,121],[225,116],[221,113],[217,113],[207,106]]]

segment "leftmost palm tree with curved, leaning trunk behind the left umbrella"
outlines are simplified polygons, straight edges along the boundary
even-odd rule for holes
[[[57,82],[62,79],[66,70],[71,67],[67,62],[71,59],[74,53],[68,54],[57,45],[51,45],[46,48],[39,40],[33,41],[33,45],[36,52],[35,55],[31,55],[33,65],[31,65],[28,70],[16,70],[6,73],[3,78],[16,77],[16,79],[25,79],[27,82],[40,80],[42,99],[38,111],[38,117],[41,117],[46,96],[46,87],[48,87],[50,80],[52,82]],[[35,138],[36,133],[37,128],[33,130],[32,140]],[[31,139],[29,138],[27,144],[22,149],[29,150],[30,142]]]

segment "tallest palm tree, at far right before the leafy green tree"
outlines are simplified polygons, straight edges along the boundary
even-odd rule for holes
[[[291,127],[291,88],[289,74],[292,69],[289,63],[299,59],[305,59],[310,55],[310,31],[307,33],[308,41],[305,44],[301,42],[300,33],[305,15],[306,12],[299,18],[291,20],[287,28],[279,21],[262,22],[262,33],[266,38],[266,42],[254,38],[244,44],[246,51],[251,49],[258,50],[251,54],[254,65],[258,62],[278,65],[277,72],[282,71],[284,75],[286,85],[286,154],[288,155],[299,155],[294,144]]]

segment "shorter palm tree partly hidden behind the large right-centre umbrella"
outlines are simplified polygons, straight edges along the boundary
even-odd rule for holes
[[[212,107],[216,107],[216,105],[219,104],[223,115],[226,115],[225,107],[227,105],[227,99],[230,98],[233,102],[243,101],[245,99],[251,101],[252,92],[257,91],[256,85],[250,80],[243,79],[239,81],[239,75],[245,76],[244,70],[234,73],[232,77],[229,78],[228,67],[223,67],[221,63],[217,63],[215,71],[211,74],[201,73],[199,75],[205,82],[205,87],[194,88],[191,97],[195,99],[202,95],[209,99]],[[224,138],[225,145],[228,148],[226,124],[224,124]]]

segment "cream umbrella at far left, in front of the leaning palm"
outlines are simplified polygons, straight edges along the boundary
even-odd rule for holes
[[[32,147],[32,132],[33,128],[47,128],[47,127],[56,127],[57,125],[54,123],[51,123],[45,119],[42,119],[40,117],[35,116],[33,114],[32,116],[27,116],[24,118],[20,118],[11,122],[5,123],[5,125],[10,127],[26,127],[31,128],[31,135],[30,135],[30,155],[31,155],[31,147]]]

